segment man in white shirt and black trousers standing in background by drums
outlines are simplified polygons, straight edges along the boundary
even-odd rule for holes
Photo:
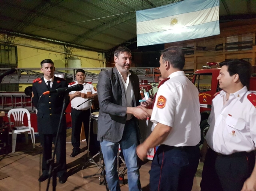
[[[85,82],[85,71],[83,69],[78,69],[76,71],[76,80],[77,81],[70,83],[69,87],[76,84],[82,84],[84,86],[84,89],[81,91],[71,91],[69,93],[69,99],[72,107],[71,109],[71,118],[72,118],[71,143],[73,145],[73,152],[70,154],[71,157],[75,157],[80,152],[79,147],[80,147],[80,133],[81,133],[82,122],[84,122],[85,137],[88,145],[91,102],[87,101],[84,103],[84,101],[97,95],[97,91],[96,89],[94,89],[93,85],[90,82]],[[80,104],[82,105],[77,107]],[[91,136],[92,135],[93,135],[93,131],[91,131]],[[97,150],[94,149],[94,144],[90,144],[90,152],[92,154],[97,153]]]

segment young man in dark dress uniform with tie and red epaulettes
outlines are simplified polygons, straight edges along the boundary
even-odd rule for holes
[[[57,88],[67,87],[67,82],[63,78],[54,76],[54,63],[50,59],[45,59],[41,62],[41,71],[43,78],[37,78],[33,81],[32,101],[37,112],[37,128],[40,136],[40,142],[43,147],[42,171],[43,174],[38,181],[42,182],[48,178],[49,164],[47,160],[52,157],[52,142],[55,144],[58,123],[61,116],[63,100],[65,99],[65,109],[69,103],[67,94],[47,94],[43,95],[39,102],[39,97],[43,92],[55,90]],[[56,145],[55,145],[56,147]],[[56,158],[58,163],[57,176],[60,183],[67,181],[66,176],[66,117],[63,115],[59,137],[56,147]]]

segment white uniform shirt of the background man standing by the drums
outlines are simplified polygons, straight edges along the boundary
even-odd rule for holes
[[[71,86],[77,85],[77,84],[78,84],[78,82],[75,81],[75,83],[73,83],[72,85],[69,85],[68,87],[71,87]],[[83,84],[83,86],[84,86],[84,89],[79,91],[79,92],[86,94],[88,91],[90,91],[91,94],[97,94],[97,91],[94,90],[94,87],[93,87],[92,84],[85,82]],[[71,91],[69,94],[74,94],[75,92],[76,91]],[[86,100],[88,100],[88,99],[87,98],[82,98],[82,97],[75,97],[75,98],[73,98],[70,101],[71,102],[71,107],[73,107],[76,110],[87,110],[87,109],[90,109],[90,107],[91,107],[90,101],[87,101],[84,104],[82,104],[81,106],[77,107],[78,105],[80,105],[81,103],[83,103]]]

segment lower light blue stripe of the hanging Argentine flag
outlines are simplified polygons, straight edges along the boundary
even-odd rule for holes
[[[139,34],[137,35],[137,47],[204,38],[218,34],[220,34],[219,21],[214,21],[167,31]]]

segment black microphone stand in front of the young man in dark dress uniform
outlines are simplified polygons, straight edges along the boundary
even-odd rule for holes
[[[48,182],[47,182],[46,191],[49,190],[51,175],[52,175],[52,191],[56,191],[58,164],[55,163],[54,160],[55,160],[55,153],[56,153],[56,148],[57,148],[57,143],[58,143],[61,121],[62,121],[62,118],[63,118],[64,108],[65,108],[65,104],[66,104],[65,101],[66,101],[66,97],[64,97],[64,99],[63,99],[63,105],[62,105],[62,110],[61,110],[61,115],[60,115],[60,121],[59,121],[59,124],[58,124],[58,130],[57,130],[57,135],[56,135],[56,140],[55,140],[55,145],[54,145],[54,151],[53,151],[53,154],[52,154],[52,158],[47,161],[47,163],[50,164],[50,167],[49,167],[49,172],[48,172],[49,178],[48,178]]]

